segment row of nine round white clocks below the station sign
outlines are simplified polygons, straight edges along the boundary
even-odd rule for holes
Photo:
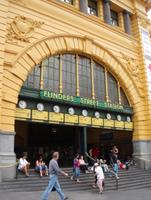
[[[20,100],[19,103],[18,103],[18,105],[19,105],[19,108],[22,108],[22,109],[27,108],[27,103],[26,103],[26,101],[24,101],[24,100]],[[44,110],[44,104],[38,103],[38,104],[37,104],[37,110],[43,111],[43,110]],[[53,111],[54,111],[55,113],[59,113],[59,112],[60,112],[60,107],[59,107],[58,105],[54,105],[54,106],[53,106]],[[74,108],[72,108],[72,107],[68,108],[68,113],[69,113],[70,115],[74,115],[74,114],[75,114]],[[87,111],[86,109],[83,109],[83,110],[82,110],[82,115],[83,115],[84,117],[87,117],[87,116],[88,116],[88,111]],[[94,115],[95,115],[95,117],[96,117],[97,119],[99,119],[99,118],[101,117],[101,115],[100,115],[100,113],[99,113],[98,111],[96,111],[96,112],[94,113]],[[106,118],[107,118],[108,120],[111,120],[111,119],[112,119],[111,114],[110,114],[110,113],[107,113],[107,114],[106,114]],[[117,115],[117,120],[118,120],[118,121],[121,121],[121,120],[122,120],[121,115]],[[127,120],[127,122],[130,122],[130,121],[131,121],[131,118],[130,118],[129,116],[127,116],[126,120]]]

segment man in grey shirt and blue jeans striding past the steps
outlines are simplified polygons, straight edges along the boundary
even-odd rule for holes
[[[67,173],[62,171],[58,166],[58,159],[59,159],[59,152],[54,152],[52,155],[52,159],[49,162],[49,173],[50,173],[50,180],[46,190],[44,191],[41,200],[48,200],[48,195],[52,191],[53,187],[57,191],[60,196],[60,200],[67,200],[68,197],[65,197],[64,193],[60,188],[60,184],[58,181],[58,174],[61,173],[65,176],[68,176]]]

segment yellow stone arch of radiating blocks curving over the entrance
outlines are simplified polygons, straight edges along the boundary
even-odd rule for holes
[[[6,152],[10,152],[10,157],[13,157],[12,162],[14,162],[15,158],[13,152],[15,111],[20,89],[36,64],[40,63],[48,56],[63,52],[87,54],[102,62],[107,69],[113,73],[116,79],[119,80],[121,86],[125,90],[130,104],[134,108],[134,122],[135,119],[138,120],[141,117],[139,112],[137,113],[139,102],[141,102],[137,86],[123,64],[107,49],[85,36],[56,35],[53,37],[46,37],[24,49],[17,55],[12,68],[4,72],[1,127],[4,133],[3,135],[5,135],[3,139],[3,141],[5,140],[4,143],[6,143],[8,138],[10,140],[9,143],[11,143],[8,144],[9,147],[7,147]],[[6,160],[8,159],[9,158],[6,158]]]

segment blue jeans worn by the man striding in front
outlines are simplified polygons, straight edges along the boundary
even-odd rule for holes
[[[48,200],[48,195],[52,191],[53,187],[56,189],[57,193],[59,194],[60,200],[65,199],[64,193],[62,192],[62,190],[60,188],[58,176],[55,174],[51,174],[48,186],[47,186],[46,190],[44,191],[41,200]]]

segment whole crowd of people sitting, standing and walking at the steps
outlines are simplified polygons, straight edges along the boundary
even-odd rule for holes
[[[55,190],[60,195],[61,200],[68,199],[64,196],[59,182],[58,182],[58,173],[61,173],[65,176],[69,176],[71,180],[75,180],[77,183],[80,182],[81,173],[94,173],[95,182],[93,187],[99,188],[99,193],[102,194],[104,187],[104,173],[110,177],[115,177],[119,179],[118,171],[119,169],[129,169],[131,160],[127,160],[124,163],[121,162],[118,158],[119,150],[116,146],[113,146],[110,150],[110,165],[108,165],[107,160],[100,158],[100,152],[97,147],[91,148],[89,150],[88,158],[89,163],[84,160],[84,156],[76,154],[73,159],[73,175],[69,176],[67,173],[63,172],[58,166],[59,153],[54,152],[52,154],[52,159],[49,162],[49,168],[46,163],[43,161],[42,155],[38,157],[35,161],[35,171],[39,173],[40,177],[50,175],[50,180],[48,187],[46,188],[42,200],[48,199],[49,192],[55,188]],[[30,163],[27,161],[27,153],[23,153],[23,156],[19,159],[18,170],[25,173],[29,176],[29,167]]]

